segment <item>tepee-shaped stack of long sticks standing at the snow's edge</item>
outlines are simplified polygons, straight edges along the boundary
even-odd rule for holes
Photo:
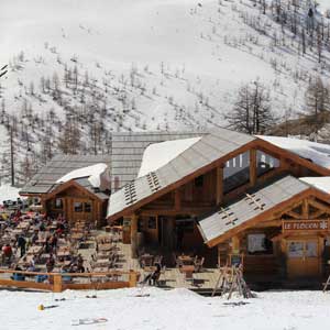
[[[244,298],[254,297],[243,278],[242,266],[224,266],[220,267],[219,271],[220,274],[212,292],[212,297],[219,294],[220,296],[228,295],[227,298],[230,299],[234,292]]]

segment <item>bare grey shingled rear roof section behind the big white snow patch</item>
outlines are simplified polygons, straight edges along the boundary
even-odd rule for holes
[[[202,136],[206,132],[122,132],[112,133],[111,189],[122,188],[138,177],[145,148],[164,141]]]

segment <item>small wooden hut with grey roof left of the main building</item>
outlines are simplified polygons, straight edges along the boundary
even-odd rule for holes
[[[51,217],[64,216],[73,226],[77,221],[105,226],[110,177],[108,185],[94,187],[84,168],[97,164],[110,166],[110,156],[95,155],[56,155],[20,191],[21,196],[38,198],[43,211]],[[78,177],[64,183],[58,180],[82,168]]]

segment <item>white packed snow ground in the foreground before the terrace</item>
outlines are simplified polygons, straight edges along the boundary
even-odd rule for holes
[[[310,330],[328,329],[330,294],[267,292],[257,298],[226,300],[202,297],[186,289],[146,288],[62,294],[0,292],[0,322],[6,330],[75,329],[73,319],[107,318],[81,329],[165,330]],[[139,295],[146,297],[139,297]],[[64,301],[55,299],[66,298]],[[234,302],[243,301],[235,306]],[[37,306],[58,305],[37,309]],[[78,327],[78,329],[79,329]]]

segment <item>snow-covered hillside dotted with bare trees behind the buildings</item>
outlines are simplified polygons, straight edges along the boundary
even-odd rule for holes
[[[301,56],[267,3],[263,14],[252,0],[2,0],[0,123],[15,127],[22,177],[73,124],[79,152],[107,152],[111,131],[226,125],[249,81],[270,88],[278,117],[305,111],[309,77],[329,76],[329,52],[321,63],[315,50]]]

